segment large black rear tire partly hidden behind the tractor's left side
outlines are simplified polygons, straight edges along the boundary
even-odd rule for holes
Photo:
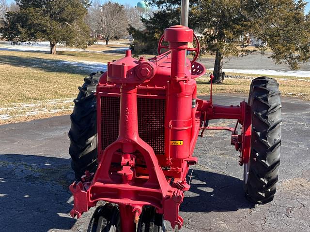
[[[103,72],[91,73],[84,78],[84,85],[78,87],[78,97],[71,114],[71,129],[69,131],[71,167],[78,180],[85,171],[94,173],[97,169],[97,107],[96,87]]]

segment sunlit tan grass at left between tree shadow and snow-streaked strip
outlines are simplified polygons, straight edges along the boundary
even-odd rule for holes
[[[49,73],[10,65],[0,65],[0,73],[5,83],[0,86],[1,108],[10,103],[73,98],[84,77],[83,74]]]

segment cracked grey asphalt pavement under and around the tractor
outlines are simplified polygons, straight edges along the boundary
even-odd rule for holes
[[[240,96],[217,95],[238,104]],[[181,232],[310,231],[310,102],[283,99],[283,143],[273,202],[248,203],[230,134],[199,138],[191,189],[181,206]],[[232,124],[222,121],[221,125]],[[213,124],[215,125],[215,124]],[[0,126],[0,231],[84,232],[93,209],[69,217],[74,179],[68,155],[69,116]],[[170,231],[170,230],[168,230]]]

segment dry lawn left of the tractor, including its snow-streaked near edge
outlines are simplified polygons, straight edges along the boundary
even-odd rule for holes
[[[91,71],[61,61],[102,61],[110,55],[0,51],[0,124],[68,114],[78,86]]]

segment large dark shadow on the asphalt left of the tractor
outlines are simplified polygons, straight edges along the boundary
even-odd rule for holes
[[[68,159],[0,155],[0,231],[70,230],[72,180]]]

